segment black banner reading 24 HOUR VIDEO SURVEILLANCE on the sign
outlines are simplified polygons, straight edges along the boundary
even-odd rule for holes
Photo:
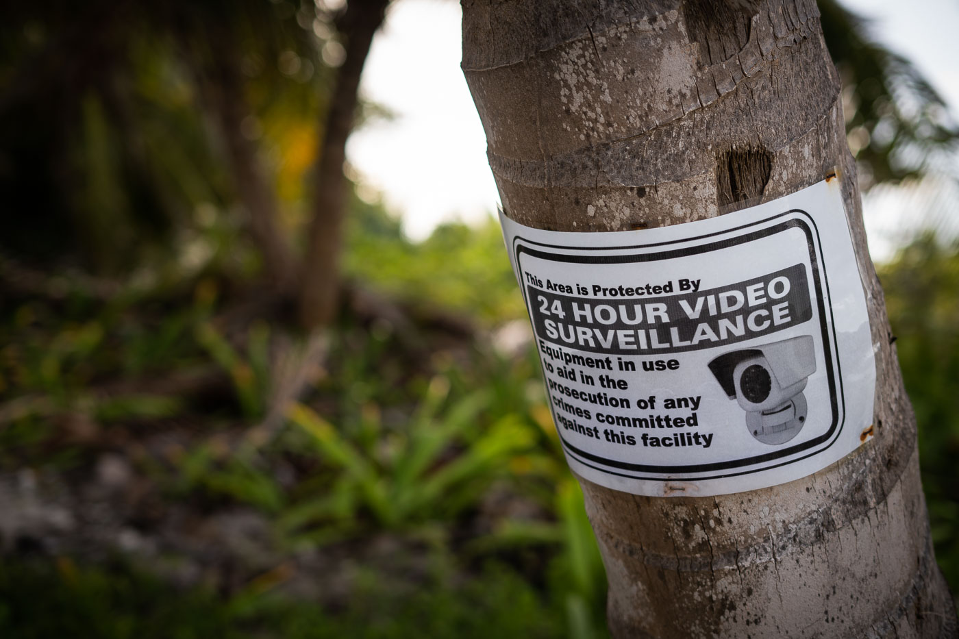
[[[802,264],[673,296],[557,295],[526,286],[538,337],[616,355],[679,353],[743,342],[812,319]]]

